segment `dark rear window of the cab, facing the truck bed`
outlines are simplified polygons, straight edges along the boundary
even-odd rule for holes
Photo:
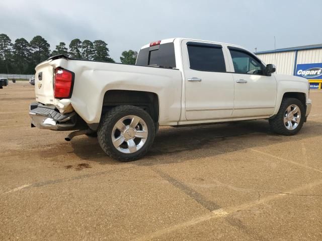
[[[174,43],[160,44],[141,49],[136,65],[151,65],[176,68]]]

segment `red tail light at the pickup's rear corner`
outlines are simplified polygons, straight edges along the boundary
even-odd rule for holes
[[[62,68],[56,68],[54,80],[55,98],[70,98],[74,81],[74,73]]]

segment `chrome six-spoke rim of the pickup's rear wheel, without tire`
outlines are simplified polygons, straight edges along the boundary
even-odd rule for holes
[[[119,119],[112,130],[112,143],[122,153],[135,153],[147,140],[148,130],[142,118],[127,115]]]

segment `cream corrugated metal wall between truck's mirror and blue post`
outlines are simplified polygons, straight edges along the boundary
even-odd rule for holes
[[[266,64],[275,64],[276,73],[293,75],[295,51],[257,54]]]

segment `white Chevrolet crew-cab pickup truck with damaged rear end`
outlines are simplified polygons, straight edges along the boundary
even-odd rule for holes
[[[98,137],[121,161],[142,157],[158,126],[268,119],[294,135],[311,109],[304,78],[275,74],[243,47],[174,38],[143,46],[135,65],[50,57],[37,65],[31,126]]]

